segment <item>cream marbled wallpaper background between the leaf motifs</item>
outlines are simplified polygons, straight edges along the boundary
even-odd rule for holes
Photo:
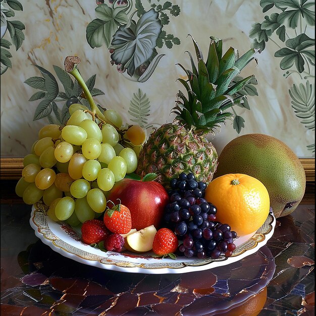
[[[47,124],[46,119],[33,121],[34,111],[39,101],[29,102],[29,97],[38,90],[23,83],[32,76],[41,76],[32,66],[37,64],[55,75],[52,65],[64,67],[68,55],[81,58],[79,66],[83,78],[97,74],[95,87],[106,95],[95,100],[103,107],[118,109],[123,119],[131,123],[127,113],[129,102],[138,88],[146,93],[150,100],[151,112],[148,123],[163,124],[171,121],[170,109],[174,106],[182,85],[176,82],[184,73],[176,63],[189,67],[185,50],[193,53],[192,41],[188,33],[196,39],[204,56],[207,55],[209,36],[224,39],[225,51],[233,46],[243,54],[250,48],[248,34],[254,22],[262,22],[266,14],[262,13],[259,0],[182,0],[171,1],[178,4],[181,14],[170,17],[170,24],[164,27],[181,40],[180,45],[172,49],[164,46],[162,58],[153,75],[145,83],[127,80],[110,64],[110,53],[106,46],[92,49],[85,38],[86,26],[95,19],[95,1],[66,0],[30,0],[21,1],[23,12],[16,12],[15,19],[26,26],[25,40],[13,55],[13,68],[1,76],[1,156],[20,157],[30,152],[37,139],[39,129]],[[107,2],[106,2],[107,3]],[[143,4],[147,4],[143,1]],[[148,5],[149,8],[149,5]],[[313,37],[313,31],[310,31]],[[307,34],[308,35],[308,34]],[[284,141],[299,157],[311,157],[312,152],[306,145],[314,143],[314,132],[304,128],[294,114],[288,89],[292,79],[284,79],[279,67],[280,59],[274,58],[277,47],[269,41],[266,49],[257,56],[258,66],[252,63],[244,75],[254,73],[258,80],[259,96],[249,97],[251,111],[236,107],[236,112],[245,119],[245,128],[240,134],[228,121],[221,131],[216,133],[212,142],[220,153],[233,138],[247,133],[264,133]],[[60,107],[62,107],[60,102]],[[243,113],[244,112],[244,113]]]

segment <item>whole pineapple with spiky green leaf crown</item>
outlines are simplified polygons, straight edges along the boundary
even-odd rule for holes
[[[176,106],[171,110],[176,114],[175,120],[149,135],[139,154],[136,170],[141,176],[156,173],[157,181],[165,188],[170,188],[170,181],[181,172],[192,172],[198,181],[207,184],[212,180],[218,154],[206,135],[214,134],[221,123],[233,116],[227,111],[230,107],[243,102],[245,96],[238,91],[255,77],[242,78],[240,72],[255,60],[256,52],[260,52],[249,49],[239,57],[238,50],[230,47],[222,56],[222,40],[211,36],[204,62],[199,46],[191,38],[197,66],[190,52],[192,70],[178,64],[188,77],[187,80],[178,79],[185,87],[187,97],[179,91]]]

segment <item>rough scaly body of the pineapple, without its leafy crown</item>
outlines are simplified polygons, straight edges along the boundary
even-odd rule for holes
[[[218,154],[212,143],[193,129],[167,123],[153,131],[142,148],[136,173],[156,173],[165,188],[181,172],[192,172],[198,181],[209,183],[217,168]]]

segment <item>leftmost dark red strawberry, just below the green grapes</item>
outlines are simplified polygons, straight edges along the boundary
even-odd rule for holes
[[[106,225],[100,220],[88,220],[81,226],[81,240],[89,245],[106,240],[110,234]]]

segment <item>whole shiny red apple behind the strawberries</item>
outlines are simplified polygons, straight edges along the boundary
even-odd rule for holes
[[[137,230],[154,225],[160,228],[165,206],[169,202],[166,189],[155,181],[141,181],[124,178],[114,184],[107,197],[129,208],[132,217],[132,228]],[[113,205],[109,205],[109,207]]]

